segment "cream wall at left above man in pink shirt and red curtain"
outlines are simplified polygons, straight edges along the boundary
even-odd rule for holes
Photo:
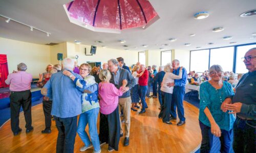
[[[27,72],[38,78],[50,63],[50,46],[16,41],[0,37],[0,54],[6,54],[9,73],[17,70],[17,64],[23,62],[28,66]]]

